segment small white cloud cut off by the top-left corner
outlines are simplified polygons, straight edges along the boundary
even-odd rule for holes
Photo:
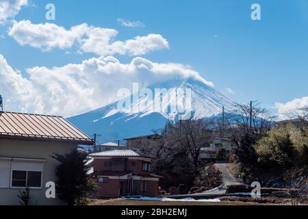
[[[0,0],[0,23],[14,18],[21,7],[27,4],[27,0]]]

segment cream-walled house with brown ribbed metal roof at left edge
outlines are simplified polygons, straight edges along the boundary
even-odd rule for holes
[[[77,145],[94,141],[60,116],[0,112],[0,205],[19,205],[18,191],[31,189],[35,205],[61,205],[46,197],[58,162]]]

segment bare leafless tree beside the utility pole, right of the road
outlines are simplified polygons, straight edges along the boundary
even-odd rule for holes
[[[257,101],[236,104],[227,114],[229,135],[238,146],[233,160],[238,164],[238,174],[247,182],[257,178],[258,156],[254,145],[273,127],[273,119],[264,108],[259,107]]]

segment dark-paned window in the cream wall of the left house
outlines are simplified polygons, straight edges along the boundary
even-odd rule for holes
[[[42,172],[12,170],[12,187],[41,188]]]

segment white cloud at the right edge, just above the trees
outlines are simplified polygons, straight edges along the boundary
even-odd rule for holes
[[[300,99],[294,99],[287,103],[275,103],[275,107],[278,110],[279,118],[285,119],[296,114],[301,114],[303,108],[308,107],[308,96],[304,96]]]

